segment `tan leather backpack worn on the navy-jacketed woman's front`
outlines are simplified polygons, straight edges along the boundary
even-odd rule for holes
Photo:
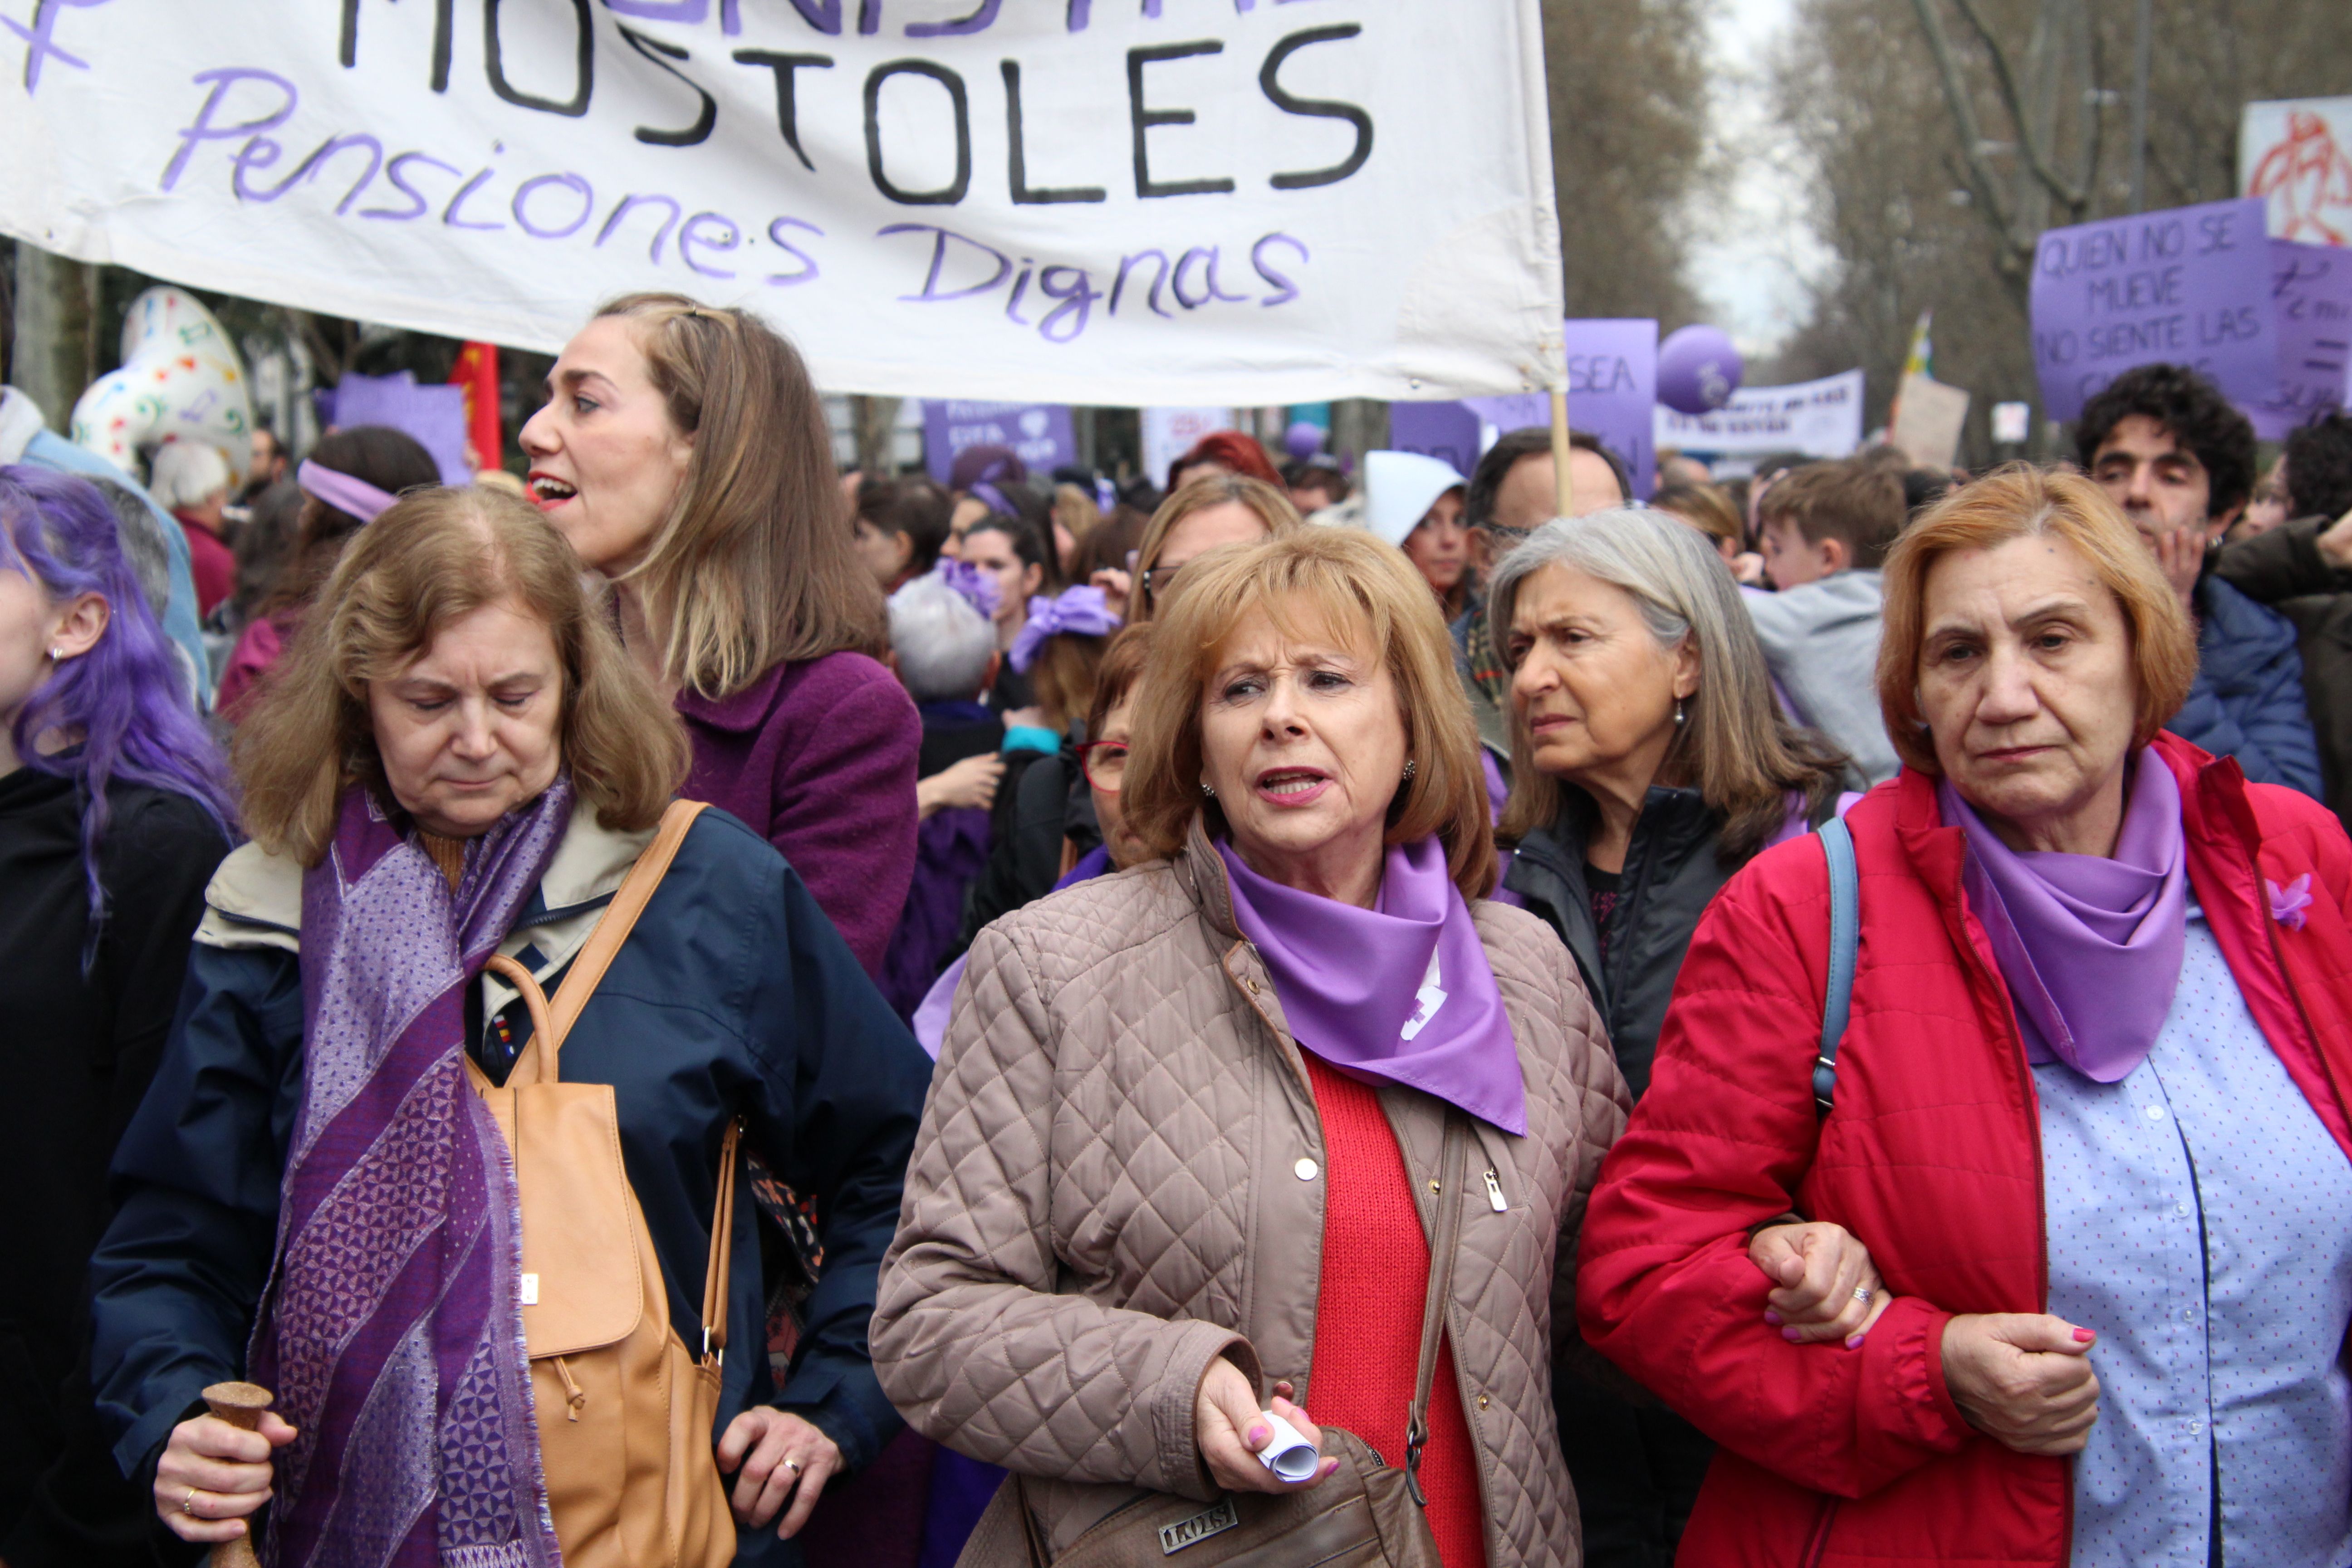
[[[522,1199],[522,1338],[532,1356],[539,1460],[567,1568],[727,1568],[736,1556],[727,1486],[710,1450],[727,1352],[727,1253],[736,1140],[720,1145],[703,1279],[703,1352],[670,1331],[654,1237],[621,1164],[612,1084],[564,1084],[564,1034],[701,811],[675,802],[637,858],[553,1006],[508,957],[499,971],[532,1011],[532,1039],[503,1086],[468,1060],[515,1157]]]

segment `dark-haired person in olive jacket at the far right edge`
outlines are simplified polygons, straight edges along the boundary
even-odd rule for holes
[[[2213,576],[2293,621],[2326,802],[2352,827],[2352,414],[2288,435],[2281,468],[2286,522],[2232,543]]]

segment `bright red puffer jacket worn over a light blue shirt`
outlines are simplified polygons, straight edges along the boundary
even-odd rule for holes
[[[2324,806],[2159,736],[2190,886],[2288,1074],[2352,1154],[2352,844]],[[1818,844],[1757,856],[1682,964],[1658,1067],[1585,1215],[1578,1319],[1722,1443],[1679,1563],[2065,1563],[2070,1469],[1978,1436],[1943,1382],[1957,1312],[2042,1312],[2032,1070],[1936,783],[1905,771],[1849,816],[1863,945],[1837,1110],[1811,1093],[1830,966]],[[2310,877],[2300,929],[2263,882]],[[1745,1229],[1785,1211],[1870,1246],[1896,1300],[1860,1349],[1764,1324]]]

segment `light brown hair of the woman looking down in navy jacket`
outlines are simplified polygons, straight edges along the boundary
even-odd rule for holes
[[[452,621],[515,604],[548,628],[564,672],[557,743],[581,806],[652,827],[687,776],[687,731],[581,585],[572,545],[517,496],[416,489],[360,529],[301,632],[238,724],[245,830],[318,865],[343,792],[390,804],[367,684],[421,658]]]

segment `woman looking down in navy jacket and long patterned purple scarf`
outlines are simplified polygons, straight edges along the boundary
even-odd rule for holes
[[[684,762],[677,719],[522,503],[409,496],[336,567],[240,729],[256,844],[207,891],[94,1262],[115,1455],[153,1469],[183,1540],[242,1535],[270,1502],[282,1563],[553,1561],[517,1396],[532,1291],[513,1175],[466,1063],[506,1079],[529,1018],[485,966],[506,954],[560,987]],[[746,1342],[767,1314],[736,1197],[739,1354],[713,1436],[741,1563],[797,1561],[760,1526],[797,1530],[898,1429],[866,1326],[927,1067],[800,877],[720,811],[564,1037],[564,1081],[616,1091],[689,1347],[731,1121],[823,1215],[828,1267],[779,1378]],[[278,1392],[259,1434],[202,1415],[200,1389],[228,1378]]]

